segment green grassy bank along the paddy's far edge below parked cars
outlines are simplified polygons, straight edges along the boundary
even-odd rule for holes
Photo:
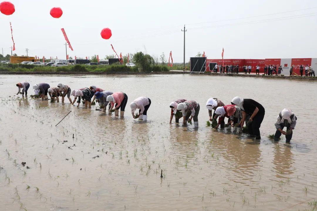
[[[68,65],[62,67],[36,66],[22,64],[1,64],[0,72],[167,72],[166,66],[152,66],[147,70],[139,70],[138,67],[126,65]]]

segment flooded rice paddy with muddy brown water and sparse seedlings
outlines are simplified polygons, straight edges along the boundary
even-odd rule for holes
[[[313,210],[316,206],[317,110],[311,109],[317,104],[316,83],[191,75],[0,78],[1,210]],[[15,84],[22,81],[31,87],[61,82],[71,89],[96,85],[123,91],[129,98],[125,117],[96,111],[96,106],[76,108],[67,99],[62,104],[17,98]],[[152,100],[146,123],[134,120],[129,109],[139,96]],[[229,104],[235,96],[253,98],[266,109],[261,141],[232,133],[231,128],[206,127],[207,99],[217,97]],[[200,103],[197,131],[193,125],[169,124],[169,103],[178,98]],[[279,143],[267,138],[275,133],[274,123],[283,108],[298,117],[291,144],[285,138]]]

